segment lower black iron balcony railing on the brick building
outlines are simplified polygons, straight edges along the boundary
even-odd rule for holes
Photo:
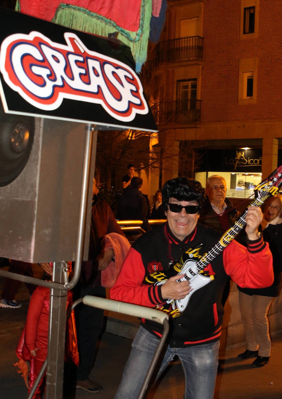
[[[201,100],[163,101],[151,110],[157,124],[200,122]]]

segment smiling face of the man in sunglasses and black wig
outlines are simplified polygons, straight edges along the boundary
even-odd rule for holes
[[[182,206],[199,205],[197,201],[179,201],[173,197],[169,198],[169,203],[177,203]],[[167,215],[167,223],[169,223],[171,232],[180,241],[183,241],[187,235],[192,233],[199,219],[199,213],[186,213],[185,208],[183,208],[181,212],[176,213],[172,212],[168,207],[165,214]]]

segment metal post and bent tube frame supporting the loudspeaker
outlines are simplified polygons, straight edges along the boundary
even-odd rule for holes
[[[77,234],[77,248],[75,256],[75,270],[73,279],[68,282],[66,278],[66,262],[54,262],[53,282],[46,282],[40,279],[28,277],[30,282],[38,280],[38,285],[50,287],[50,312],[49,312],[49,333],[48,333],[48,353],[47,362],[44,362],[40,375],[44,375],[44,370],[47,365],[46,373],[46,399],[61,399],[63,396],[63,379],[64,379],[64,352],[65,352],[65,335],[66,335],[66,304],[68,290],[73,288],[80,277],[81,262],[83,256],[83,245],[85,236],[85,223],[87,211],[87,195],[90,177],[91,152],[93,143],[94,126],[87,124],[85,126],[85,154],[83,164],[83,182],[81,189],[81,207],[79,216],[79,226]],[[8,272],[7,272],[8,273]],[[18,277],[26,277],[16,275],[15,273],[8,273]],[[12,278],[12,277],[11,277]],[[28,279],[22,279],[24,281]],[[55,282],[56,281],[56,282]],[[31,399],[40,378],[36,379],[32,391],[28,399]]]

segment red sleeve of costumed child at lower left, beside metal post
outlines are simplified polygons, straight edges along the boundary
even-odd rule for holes
[[[44,293],[41,290],[36,289],[30,298],[28,316],[26,318],[26,333],[24,336],[29,351],[36,348],[38,323],[44,306],[44,297]]]

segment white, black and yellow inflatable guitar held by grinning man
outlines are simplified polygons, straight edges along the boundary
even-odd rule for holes
[[[254,189],[255,199],[250,203],[249,206],[261,206],[264,201],[272,196],[278,194],[278,189],[282,185],[282,165],[279,166],[272,174],[270,174],[263,182],[258,184]],[[171,314],[173,317],[178,317],[181,315],[181,312],[187,308],[188,302],[195,291],[203,286],[207,285],[209,282],[214,280],[214,276],[205,276],[203,274],[203,270],[209,263],[211,263],[223,250],[227,247],[228,244],[238,235],[238,233],[242,230],[242,228],[246,225],[246,214],[248,212],[248,208],[244,211],[244,213],[240,216],[240,218],[228,229],[222,237],[220,237],[219,241],[212,247],[208,252],[206,252],[200,259],[197,261],[193,261],[193,251],[191,253],[184,253],[181,259],[176,262],[172,269],[173,274],[184,274],[185,276],[177,282],[189,280],[191,290],[188,295],[185,296],[184,299],[174,300],[168,299],[166,302],[157,305],[159,310]],[[201,246],[201,245],[200,245]],[[187,259],[187,260],[186,260]],[[168,271],[171,273],[171,270]],[[152,276],[153,277],[153,276]],[[171,277],[171,276],[169,276]],[[169,279],[167,277],[167,279]],[[156,282],[155,285],[164,284],[167,279],[162,279],[159,282]],[[146,277],[147,282],[153,281],[153,278],[150,278],[150,275]]]

